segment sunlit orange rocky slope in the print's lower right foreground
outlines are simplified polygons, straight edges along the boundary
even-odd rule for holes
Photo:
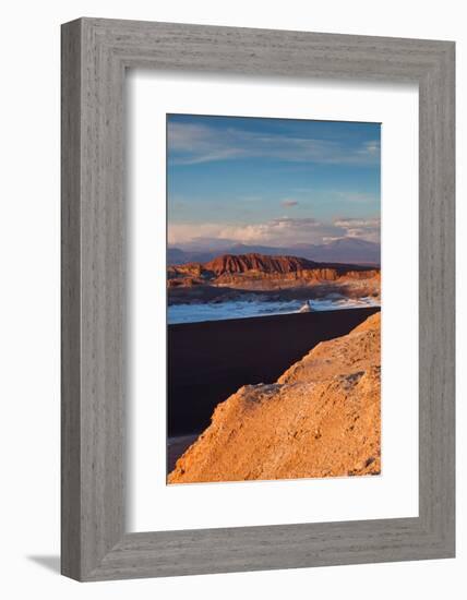
[[[246,385],[178,459],[169,483],[378,475],[381,313],[315,346],[273,384]]]

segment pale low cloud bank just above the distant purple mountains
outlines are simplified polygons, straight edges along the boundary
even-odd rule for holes
[[[274,247],[297,243],[325,243],[352,237],[378,242],[379,219],[336,219],[322,223],[314,218],[282,217],[265,223],[235,224],[170,224],[170,245],[196,245],[204,248],[229,243],[268,244]]]

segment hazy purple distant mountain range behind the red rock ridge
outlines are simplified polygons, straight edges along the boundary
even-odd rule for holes
[[[325,244],[297,244],[287,248],[267,245],[237,244],[219,250],[199,250],[169,247],[167,262],[169,265],[187,263],[206,263],[219,254],[267,254],[299,256],[314,262],[346,263],[360,265],[380,265],[380,244],[358,238],[342,238]]]

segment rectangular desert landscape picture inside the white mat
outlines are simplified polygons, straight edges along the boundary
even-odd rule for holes
[[[380,137],[167,116],[168,484],[380,475]]]

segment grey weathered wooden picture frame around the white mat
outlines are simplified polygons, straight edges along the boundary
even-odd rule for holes
[[[418,83],[417,518],[125,532],[123,86],[134,67]],[[99,580],[454,556],[454,85],[451,41],[98,19],[62,26],[64,575]]]

